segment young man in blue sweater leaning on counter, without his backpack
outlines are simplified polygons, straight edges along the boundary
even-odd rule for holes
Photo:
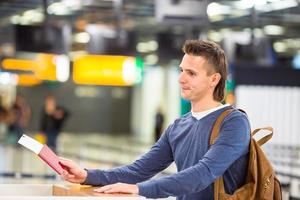
[[[221,104],[227,76],[225,53],[217,44],[204,40],[186,41],[183,51],[179,83],[182,97],[191,101],[191,112],[175,120],[148,153],[128,166],[84,170],[62,159],[67,169],[65,180],[105,185],[96,192],[132,193],[148,198],[176,196],[178,200],[213,199],[213,182],[221,175],[227,193],[243,185],[250,141],[245,114],[238,110],[229,114],[216,142],[209,147],[215,120],[230,108]],[[173,161],[177,173],[150,179]]]

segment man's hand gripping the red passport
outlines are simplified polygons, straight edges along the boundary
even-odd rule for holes
[[[82,169],[72,160],[59,158],[59,163],[64,168],[61,177],[71,183],[83,183],[87,177],[87,171]]]

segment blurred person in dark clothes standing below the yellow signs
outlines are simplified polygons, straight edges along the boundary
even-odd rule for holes
[[[68,111],[57,105],[54,96],[47,96],[41,115],[41,131],[46,136],[47,145],[56,152],[57,137],[62,130]]]

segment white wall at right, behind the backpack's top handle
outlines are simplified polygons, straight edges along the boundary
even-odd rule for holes
[[[244,109],[252,129],[272,126],[268,144],[300,145],[300,88],[278,86],[238,86],[237,107]]]

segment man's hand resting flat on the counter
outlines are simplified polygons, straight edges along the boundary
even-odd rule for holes
[[[100,193],[126,193],[126,194],[139,194],[139,188],[134,184],[126,184],[126,183],[116,183],[112,185],[106,185],[101,188],[97,188],[94,190],[95,192]]]

